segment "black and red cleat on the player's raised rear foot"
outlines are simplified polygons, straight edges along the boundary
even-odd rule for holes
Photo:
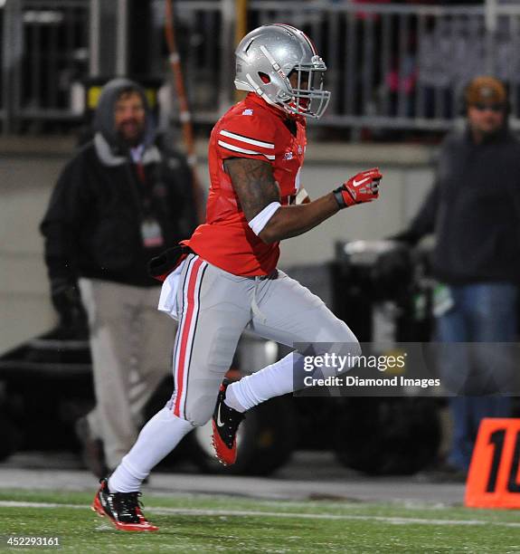
[[[220,462],[232,465],[237,459],[237,430],[244,415],[224,403],[229,379],[222,381],[213,412],[213,448]]]

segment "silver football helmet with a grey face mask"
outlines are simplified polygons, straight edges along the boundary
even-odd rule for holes
[[[330,92],[324,91],[326,64],[305,33],[286,24],[258,27],[235,50],[235,87],[307,118],[320,118]],[[291,85],[291,81],[293,85]]]

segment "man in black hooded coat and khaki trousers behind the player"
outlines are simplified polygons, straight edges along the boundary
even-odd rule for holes
[[[145,91],[109,81],[94,138],[61,172],[41,224],[52,304],[61,327],[88,325],[97,406],[77,425],[102,476],[135,442],[140,412],[169,374],[171,319],[157,311],[147,262],[196,224],[185,159],[156,146]],[[85,315],[86,310],[87,317]]]

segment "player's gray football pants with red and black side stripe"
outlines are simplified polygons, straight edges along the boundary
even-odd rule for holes
[[[359,345],[345,322],[284,272],[240,277],[190,254],[177,289],[179,328],[174,349],[175,416],[204,425],[213,414],[222,378],[242,331],[293,346],[298,342]]]

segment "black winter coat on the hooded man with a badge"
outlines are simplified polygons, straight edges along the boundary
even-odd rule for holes
[[[101,163],[91,141],[67,164],[41,224],[51,281],[90,277],[137,286],[157,282],[147,262],[189,237],[196,224],[191,173],[184,158],[162,153],[144,166],[144,182],[127,159]],[[143,219],[152,216],[164,244],[145,248]]]

